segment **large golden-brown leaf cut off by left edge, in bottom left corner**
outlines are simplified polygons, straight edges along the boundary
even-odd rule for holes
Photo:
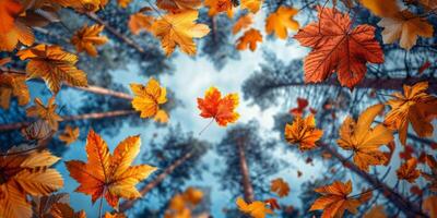
[[[50,168],[58,160],[48,150],[36,152],[27,145],[0,156],[0,217],[31,218],[28,195],[48,195],[61,189],[61,174]]]

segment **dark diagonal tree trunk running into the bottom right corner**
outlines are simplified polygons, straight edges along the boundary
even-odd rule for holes
[[[332,157],[340,160],[344,167],[352,170],[354,173],[359,175],[363,180],[365,180],[373,187],[378,189],[379,192],[382,192],[385,196],[400,210],[402,210],[406,217],[427,217],[421,209],[417,204],[414,204],[406,199],[404,196],[399,194],[397,191],[392,190],[386,183],[379,181],[377,178],[370,175],[369,173],[361,170],[356,167],[355,164],[351,162],[347,158],[343,157],[335,149],[331,148],[329,145],[320,144],[320,147],[332,155]]]

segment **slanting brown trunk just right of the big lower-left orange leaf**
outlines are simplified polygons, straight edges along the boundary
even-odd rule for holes
[[[158,174],[152,182],[150,182],[149,184],[144,185],[141,190],[140,193],[142,196],[144,196],[145,194],[147,194],[151,190],[153,190],[154,187],[156,187],[161,182],[164,181],[165,178],[167,178],[167,175],[172,174],[173,171],[175,171],[176,168],[178,168],[180,165],[182,165],[185,161],[187,161],[189,158],[192,157],[192,153],[187,153],[186,155],[184,155],[182,157],[180,157],[179,159],[177,159],[175,162],[173,162],[170,166],[168,166],[167,168],[165,168],[165,170]],[[132,199],[132,201],[126,201],[120,205],[119,211],[123,213],[128,209],[130,209],[131,207],[133,207],[133,204],[137,202],[138,199]]]

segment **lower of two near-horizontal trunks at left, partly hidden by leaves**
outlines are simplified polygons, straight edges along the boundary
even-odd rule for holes
[[[104,119],[104,118],[129,116],[129,114],[133,114],[135,112],[137,111],[134,111],[134,110],[114,110],[114,111],[107,111],[107,112],[92,112],[92,113],[84,113],[84,114],[78,114],[78,116],[66,116],[66,117],[62,117],[62,121],[60,121],[60,122],[76,121],[76,120],[99,120],[99,119]],[[20,130],[29,124],[31,124],[31,122],[16,122],[16,123],[0,124],[0,132]]]

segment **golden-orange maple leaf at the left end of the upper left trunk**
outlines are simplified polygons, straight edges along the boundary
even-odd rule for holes
[[[59,46],[37,45],[16,55],[21,60],[31,60],[26,65],[27,78],[42,77],[55,94],[60,90],[62,82],[87,86],[86,74],[75,68],[78,56],[63,51]]]

